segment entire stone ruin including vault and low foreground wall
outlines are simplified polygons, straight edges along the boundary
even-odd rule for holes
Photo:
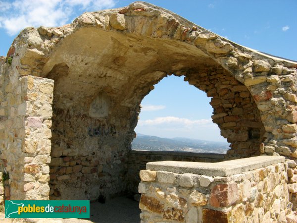
[[[167,75],[211,97],[227,154],[131,151]],[[296,92],[296,61],[146,2],[26,28],[0,57],[0,202],[139,189],[143,223],[296,222]]]

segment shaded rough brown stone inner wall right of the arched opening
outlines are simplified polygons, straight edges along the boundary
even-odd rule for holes
[[[189,73],[185,80],[211,97],[212,120],[221,129],[221,135],[231,143],[225,158],[259,155],[265,129],[247,87],[219,66]]]

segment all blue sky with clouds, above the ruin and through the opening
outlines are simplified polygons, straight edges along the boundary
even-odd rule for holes
[[[61,26],[85,11],[131,0],[0,0],[0,56],[28,26]],[[237,44],[297,60],[297,0],[148,0]],[[210,98],[182,77],[169,76],[142,101],[137,133],[225,141],[212,123]]]

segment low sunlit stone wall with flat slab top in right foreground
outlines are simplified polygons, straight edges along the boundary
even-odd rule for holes
[[[148,163],[140,171],[141,222],[294,222],[284,161],[264,156],[217,164]]]

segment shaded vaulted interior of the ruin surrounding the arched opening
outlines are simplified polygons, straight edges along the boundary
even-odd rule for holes
[[[212,120],[231,143],[223,157],[187,161],[258,154],[263,125],[252,96],[202,51],[184,42],[123,38],[117,32],[85,27],[65,37],[44,68],[44,77],[55,82],[50,199],[97,200],[137,190],[142,166],[136,161],[147,161],[131,152],[140,104],[170,73],[184,75],[211,97]],[[166,158],[152,156],[151,161],[156,157]]]

